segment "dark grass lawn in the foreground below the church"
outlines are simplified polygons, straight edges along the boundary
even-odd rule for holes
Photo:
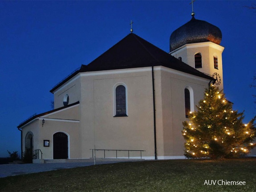
[[[245,181],[245,185],[205,181]],[[256,158],[104,164],[0,178],[0,191],[256,192]]]

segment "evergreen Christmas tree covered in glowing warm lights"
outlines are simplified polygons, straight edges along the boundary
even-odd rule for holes
[[[243,124],[244,112],[233,111],[222,91],[213,85],[183,122],[187,158],[232,158],[247,155],[256,146],[256,116]]]

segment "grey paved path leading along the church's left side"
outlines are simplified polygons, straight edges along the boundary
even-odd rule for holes
[[[112,164],[121,161],[99,161],[96,164]],[[124,161],[122,161],[124,162]],[[93,165],[94,162],[79,163],[47,163],[47,164],[1,164],[0,177],[22,175],[36,172],[46,172],[65,168],[76,168]]]

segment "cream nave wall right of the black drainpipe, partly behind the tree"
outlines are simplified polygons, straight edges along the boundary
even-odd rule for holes
[[[188,120],[185,117],[184,89],[187,86],[193,89],[191,94],[194,95],[195,108],[195,104],[203,98],[204,89],[208,87],[209,82],[183,72],[161,68],[163,132],[157,131],[157,134],[163,134],[163,154],[158,152],[158,158],[182,158],[185,142],[181,134],[182,122]]]

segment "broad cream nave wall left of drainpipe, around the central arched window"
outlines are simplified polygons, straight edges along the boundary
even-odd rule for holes
[[[89,149],[94,144],[99,149],[146,150],[143,156],[154,156],[151,68],[146,72],[145,68],[142,72],[129,71],[81,77],[81,137],[85,158],[92,157]],[[127,86],[127,117],[113,117],[113,88],[120,82]]]

